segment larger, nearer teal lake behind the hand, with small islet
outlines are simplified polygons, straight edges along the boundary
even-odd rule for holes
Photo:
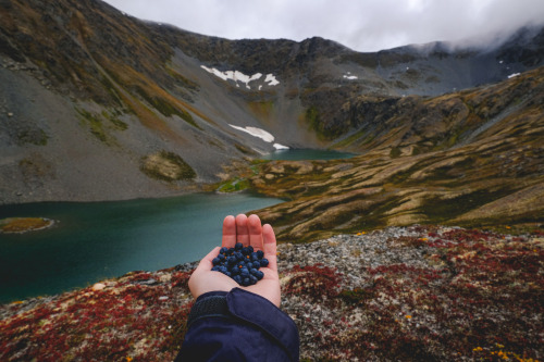
[[[224,216],[279,202],[282,200],[250,194],[197,194],[0,207],[0,219],[42,216],[59,221],[46,230],[0,234],[0,302],[200,260],[221,245]]]

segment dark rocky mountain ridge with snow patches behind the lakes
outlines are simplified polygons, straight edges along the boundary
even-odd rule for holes
[[[96,0],[0,0],[0,203],[198,190],[281,146],[461,147],[535,101],[536,82],[511,85],[543,49],[523,28],[492,49],[361,53],[207,37]]]

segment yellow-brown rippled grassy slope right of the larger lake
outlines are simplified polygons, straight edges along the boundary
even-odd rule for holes
[[[289,201],[259,213],[281,230],[281,240],[292,242],[413,223],[542,222],[543,80],[540,68],[493,87],[425,100],[431,109],[472,104],[448,127],[450,137],[452,128],[463,127],[454,140],[444,141],[447,132],[431,130],[407,142],[410,130],[405,130],[375,139],[378,148],[350,160],[263,163],[252,186]],[[418,115],[408,120],[411,130]]]

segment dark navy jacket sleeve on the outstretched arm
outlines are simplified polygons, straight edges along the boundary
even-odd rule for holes
[[[200,296],[178,361],[298,361],[293,320],[269,300],[234,288]]]

